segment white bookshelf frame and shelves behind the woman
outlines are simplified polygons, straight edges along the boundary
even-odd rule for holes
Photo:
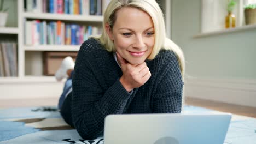
[[[43,69],[43,60],[42,53],[44,51],[78,51],[80,45],[26,45],[25,44],[25,21],[27,20],[42,20],[42,21],[63,21],[63,22],[72,22],[84,25],[95,25],[100,27],[102,25],[103,16],[100,15],[75,15],[75,14],[57,14],[57,13],[38,13],[38,12],[27,12],[24,8],[25,1],[22,0],[13,0],[14,5],[17,6],[17,27],[0,27],[0,34],[5,37],[5,34],[16,35],[16,41],[18,43],[18,76],[16,77],[0,77],[0,85],[9,82],[21,82],[28,81],[31,79],[36,81],[44,81],[49,79],[55,81],[53,76],[44,76],[42,75],[31,75],[30,72],[27,72],[27,67],[30,67],[31,62],[36,62],[40,70]],[[10,6],[10,5],[9,5]],[[11,13],[11,12],[9,12]],[[0,40],[2,38],[0,37]],[[43,70],[42,70],[43,71]],[[46,78],[47,77],[47,78]]]

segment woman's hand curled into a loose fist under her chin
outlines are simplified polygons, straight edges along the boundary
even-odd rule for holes
[[[133,88],[141,87],[149,80],[151,73],[146,62],[138,65],[131,65],[121,57],[118,52],[117,59],[123,71],[120,82],[127,92],[131,92]]]

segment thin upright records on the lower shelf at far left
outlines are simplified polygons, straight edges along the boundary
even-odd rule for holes
[[[17,43],[0,43],[0,77],[18,76]]]

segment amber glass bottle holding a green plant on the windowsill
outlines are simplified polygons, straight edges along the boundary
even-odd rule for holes
[[[234,10],[234,7],[236,5],[236,2],[234,0],[229,0],[228,2],[228,15],[226,16],[225,19],[225,27],[230,28],[230,27],[236,27],[236,16],[232,14],[232,11]]]

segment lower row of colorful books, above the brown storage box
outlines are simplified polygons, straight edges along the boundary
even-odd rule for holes
[[[90,35],[100,34],[96,26],[64,23],[62,21],[26,21],[26,45],[80,45]]]

